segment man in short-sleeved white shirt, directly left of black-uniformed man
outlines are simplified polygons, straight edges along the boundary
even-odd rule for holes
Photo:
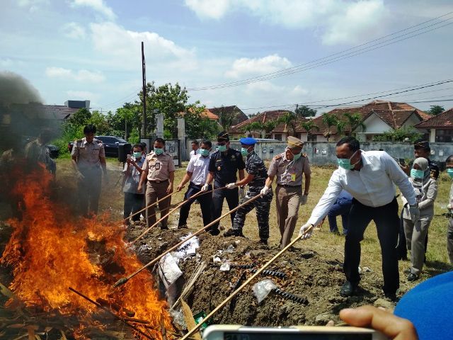
[[[212,148],[212,143],[210,140],[204,140],[201,143],[198,153],[194,157],[190,158],[189,164],[187,166],[185,175],[179,183],[177,190],[180,191],[181,188],[190,181],[189,187],[184,195],[184,200],[191,198],[195,194],[199,193],[202,186],[206,182],[207,174],[209,170],[207,169],[210,165],[210,150]],[[212,186],[209,186],[207,191],[211,191]],[[211,222],[211,203],[212,203],[212,193],[203,193],[200,196],[195,198],[200,202],[201,213],[203,216],[203,225],[208,225]],[[179,212],[179,222],[178,228],[187,227],[187,219],[189,217],[190,205],[194,200],[188,200],[180,208]]]

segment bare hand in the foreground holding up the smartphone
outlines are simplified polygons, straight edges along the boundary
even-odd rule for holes
[[[376,307],[362,306],[340,310],[340,319],[351,326],[371,327],[389,339],[418,340],[417,330],[412,322]]]

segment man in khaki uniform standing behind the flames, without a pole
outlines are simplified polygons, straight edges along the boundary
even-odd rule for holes
[[[108,183],[105,150],[101,140],[94,138],[96,126],[86,125],[85,137],[76,140],[72,147],[72,166],[76,171],[79,186],[79,209],[82,215],[98,213],[101,195],[101,168],[104,180]]]

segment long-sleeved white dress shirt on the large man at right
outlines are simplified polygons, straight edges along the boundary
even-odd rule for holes
[[[362,151],[360,171],[343,168],[333,171],[328,187],[311,212],[308,222],[318,225],[343,189],[369,207],[389,204],[395,198],[394,183],[400,188],[409,204],[415,204],[413,186],[394,159],[384,151]]]

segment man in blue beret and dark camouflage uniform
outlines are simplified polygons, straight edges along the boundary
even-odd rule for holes
[[[234,189],[238,186],[246,186],[248,184],[248,192],[241,200],[241,204],[246,200],[261,195],[260,191],[263,189],[266,179],[268,178],[268,171],[264,162],[255,152],[256,139],[254,138],[241,138],[241,154],[246,157],[246,171],[247,177],[239,182],[229,183],[226,185],[227,189]],[[270,202],[272,202],[273,192],[272,189],[267,194],[254,200],[247,205],[239,208],[234,217],[233,228],[227,230],[224,236],[243,236],[242,228],[246,222],[246,215],[253,208],[256,208],[256,219],[258,220],[258,230],[260,236],[260,243],[268,244],[269,238],[269,210]]]

